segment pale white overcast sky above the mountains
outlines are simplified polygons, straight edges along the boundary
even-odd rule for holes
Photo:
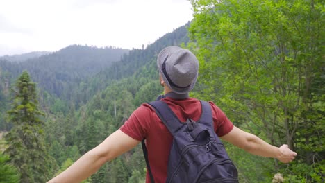
[[[0,56],[72,44],[140,49],[192,20],[188,0],[0,1]]]

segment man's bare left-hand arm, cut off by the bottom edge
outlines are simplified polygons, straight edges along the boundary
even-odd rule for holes
[[[98,171],[103,164],[131,150],[138,143],[140,141],[129,137],[121,130],[117,130],[113,134],[110,134],[96,148],[85,153],[85,155],[74,162],[67,170],[63,171],[63,173],[49,180],[48,183],[81,182]]]

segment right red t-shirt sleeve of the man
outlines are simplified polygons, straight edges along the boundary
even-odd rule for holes
[[[213,110],[213,122],[214,129],[218,137],[222,137],[228,132],[233,130],[233,123],[227,118],[226,114],[215,105],[213,102],[209,102],[211,109]]]

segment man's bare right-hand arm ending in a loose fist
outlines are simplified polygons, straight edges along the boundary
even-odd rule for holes
[[[297,153],[288,148],[288,145],[283,145],[279,148],[272,146],[256,135],[244,132],[235,126],[231,132],[220,138],[229,143],[233,143],[233,145],[238,146],[253,155],[274,157],[283,163],[291,162],[297,155]]]

